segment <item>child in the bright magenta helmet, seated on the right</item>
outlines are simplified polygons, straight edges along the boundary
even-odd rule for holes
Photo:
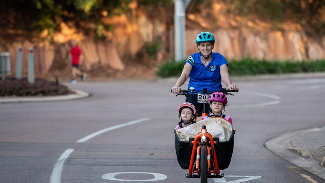
[[[229,121],[232,125],[231,117],[224,114],[225,106],[228,103],[227,96],[224,93],[217,91],[211,94],[209,102],[211,112],[208,114],[208,116],[202,117],[202,120],[206,119],[207,117],[222,117]]]

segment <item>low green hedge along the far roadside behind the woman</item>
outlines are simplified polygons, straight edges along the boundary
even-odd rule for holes
[[[159,66],[157,75],[160,77],[179,76],[184,67],[184,61],[168,61]],[[253,58],[242,58],[229,61],[230,75],[259,75],[259,74],[283,74],[301,72],[323,72],[325,71],[325,60],[317,61],[276,61],[258,60]]]

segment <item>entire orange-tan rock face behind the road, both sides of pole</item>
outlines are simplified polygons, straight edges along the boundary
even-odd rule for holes
[[[325,58],[325,37],[312,38],[303,29],[284,29],[274,31],[247,22],[242,26],[233,19],[227,19],[222,4],[213,5],[216,26],[204,23],[200,14],[187,14],[186,20],[186,54],[197,52],[196,35],[202,31],[210,31],[215,35],[214,52],[223,54],[227,59],[253,57],[267,60],[317,60]],[[12,71],[15,71],[16,48],[24,48],[23,70],[27,70],[27,49],[35,49],[35,71],[47,73],[55,64],[70,64],[70,40],[79,40],[83,52],[84,66],[87,69],[93,64],[108,65],[115,70],[123,70],[125,56],[135,57],[146,42],[161,40],[162,50],[157,61],[167,61],[174,55],[174,35],[172,21],[161,17],[149,17],[142,10],[132,9],[128,14],[105,19],[113,30],[107,40],[95,40],[86,37],[77,30],[62,24],[62,32],[56,33],[54,43],[37,42],[2,42],[0,52],[8,51],[11,55]]]

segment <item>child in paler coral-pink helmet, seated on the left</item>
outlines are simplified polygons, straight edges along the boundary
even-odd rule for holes
[[[189,102],[180,104],[178,107],[178,117],[180,122],[175,127],[176,130],[194,124],[197,117],[195,106]]]

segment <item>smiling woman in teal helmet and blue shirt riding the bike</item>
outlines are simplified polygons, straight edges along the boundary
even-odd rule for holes
[[[238,90],[238,86],[233,84],[228,73],[228,62],[223,55],[212,52],[214,48],[214,35],[209,32],[199,33],[195,43],[199,52],[190,55],[184,65],[184,69],[177,80],[172,92],[178,94],[181,86],[190,78],[188,89],[194,87],[196,91],[203,92],[207,88],[209,92],[221,89],[221,80],[227,85],[229,90]],[[197,109],[197,116],[201,116],[202,105],[196,101],[197,96],[186,97],[186,102],[192,103]],[[206,105],[206,108],[209,106]]]

